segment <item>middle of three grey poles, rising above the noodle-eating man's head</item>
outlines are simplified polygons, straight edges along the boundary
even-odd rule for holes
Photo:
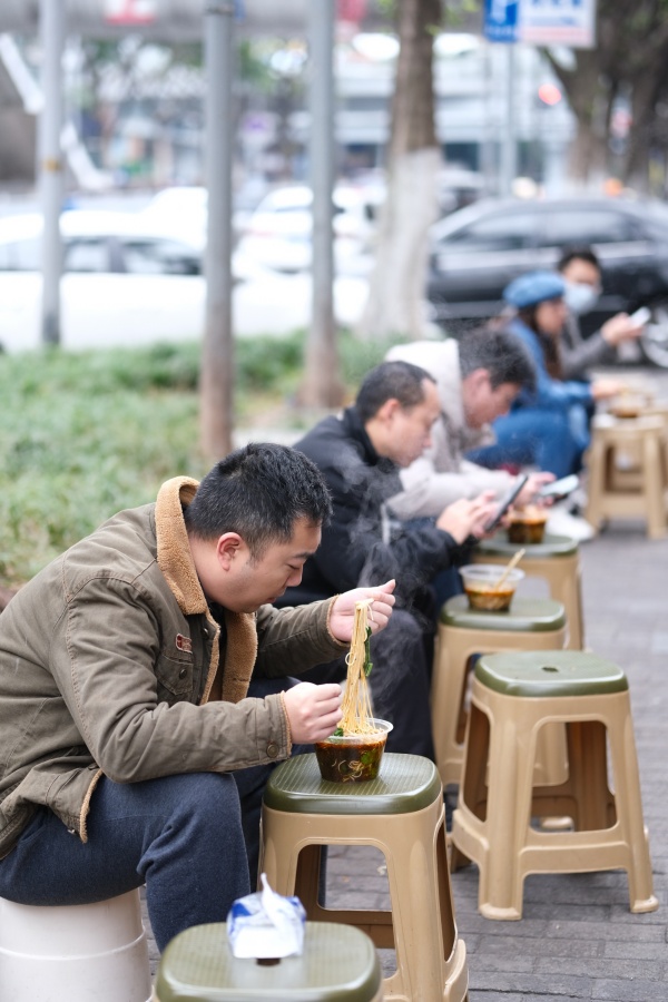
[[[206,327],[202,350],[202,448],[210,460],[232,450],[234,340],[232,331],[232,65],[234,2],[205,8]]]

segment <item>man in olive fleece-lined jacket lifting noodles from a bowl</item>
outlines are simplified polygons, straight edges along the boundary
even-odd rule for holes
[[[394,602],[389,582],[267,605],[299,582],[330,511],[304,455],[248,445],[200,484],[167,481],[9,601],[0,896],[75,905],[146,884],[163,951],[225,920],[249,861],[255,887],[269,769],[341,719],[338,685],[285,676],[345,649],[355,601],[372,599],[373,630]]]

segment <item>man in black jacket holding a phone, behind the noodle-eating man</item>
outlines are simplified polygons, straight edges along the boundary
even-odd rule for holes
[[[377,716],[394,729],[387,748],[433,757],[429,688],[433,601],[431,581],[466,559],[463,546],[481,536],[493,503],[491,494],[463,499],[438,519],[420,524],[392,518],[387,500],[401,490],[399,470],[430,444],[440,414],[435,382],[407,362],[385,362],[364,380],[355,405],[326,418],[295,449],[320,468],[332,493],[333,517],[301,584],[279,603],[299,605],[354,588],[379,574],[396,580],[397,606],[381,638],[372,641],[370,676]],[[429,612],[430,615],[425,615]],[[311,677],[338,679],[342,660],[315,669]]]

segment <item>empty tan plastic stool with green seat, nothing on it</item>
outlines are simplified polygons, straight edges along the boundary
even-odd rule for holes
[[[553,723],[566,725],[568,778],[536,786],[538,734]],[[531,817],[557,815],[571,817],[573,829],[531,827]],[[617,665],[572,650],[480,658],[452,844],[453,868],[468,859],[480,868],[487,918],[521,918],[530,873],[626,870],[631,911],[658,907],[628,682]]]

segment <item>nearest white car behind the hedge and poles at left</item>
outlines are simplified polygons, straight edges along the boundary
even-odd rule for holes
[[[67,212],[60,227],[65,348],[139,346],[202,336],[206,283],[197,247],[154,232],[140,213]],[[42,217],[37,213],[0,219],[0,346],[6,351],[41,344],[41,233]],[[310,275],[279,275],[236,254],[233,276],[236,334],[281,335],[307,326]],[[340,323],[355,323],[365,295],[361,279],[335,282]]]

